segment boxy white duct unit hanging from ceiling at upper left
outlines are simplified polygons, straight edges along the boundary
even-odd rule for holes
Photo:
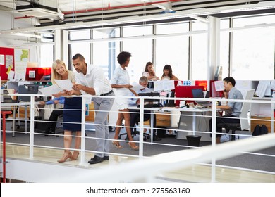
[[[26,17],[49,18],[51,20],[63,20],[63,13],[57,8],[57,1],[53,0],[32,0],[17,1],[15,13],[25,15]]]

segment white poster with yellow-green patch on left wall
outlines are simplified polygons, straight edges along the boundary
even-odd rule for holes
[[[29,61],[29,49],[14,49],[16,78],[25,80],[27,62]]]

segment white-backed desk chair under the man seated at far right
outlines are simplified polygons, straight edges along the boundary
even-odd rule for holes
[[[245,100],[252,100],[255,89],[251,89],[247,91],[245,96]],[[249,129],[249,120],[247,117],[247,113],[250,111],[251,103],[243,103],[242,109],[240,110],[240,123],[219,123],[219,127],[223,127],[226,129],[226,133],[231,131],[231,140],[235,140],[236,131],[243,131]]]

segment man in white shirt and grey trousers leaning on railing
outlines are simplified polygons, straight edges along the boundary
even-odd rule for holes
[[[75,75],[75,85],[73,85],[73,91],[71,94],[91,94],[95,96],[114,96],[114,92],[104,76],[104,71],[95,65],[87,65],[85,58],[76,54],[73,56],[73,66],[78,74]],[[101,163],[104,160],[109,160],[109,127],[108,127],[108,115],[109,110],[114,103],[114,98],[93,97],[94,110],[96,113],[94,119],[95,125],[95,137],[97,142],[97,148],[94,154],[94,158],[91,158],[88,163]]]

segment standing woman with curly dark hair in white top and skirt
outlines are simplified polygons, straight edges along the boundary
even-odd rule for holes
[[[130,56],[132,56],[130,53],[126,51],[122,51],[118,54],[118,63],[120,66],[116,68],[114,71],[113,79],[111,80],[111,87],[116,88],[116,96],[118,98],[116,99],[116,104],[118,105],[118,120],[116,121],[116,133],[114,136],[114,141],[112,144],[116,146],[116,148],[122,148],[119,144],[119,141],[116,141],[118,139],[119,133],[121,132],[121,125],[123,119],[125,120],[125,128],[129,139],[129,146],[133,150],[138,150],[138,146],[135,145],[135,142],[133,142],[133,137],[130,132],[130,113],[128,109],[129,104],[129,98],[123,98],[124,96],[131,96],[130,94],[130,88],[133,87],[130,85],[130,77],[128,74],[128,70],[126,70],[126,67],[128,67],[130,62]],[[134,94],[135,91],[133,91]]]

